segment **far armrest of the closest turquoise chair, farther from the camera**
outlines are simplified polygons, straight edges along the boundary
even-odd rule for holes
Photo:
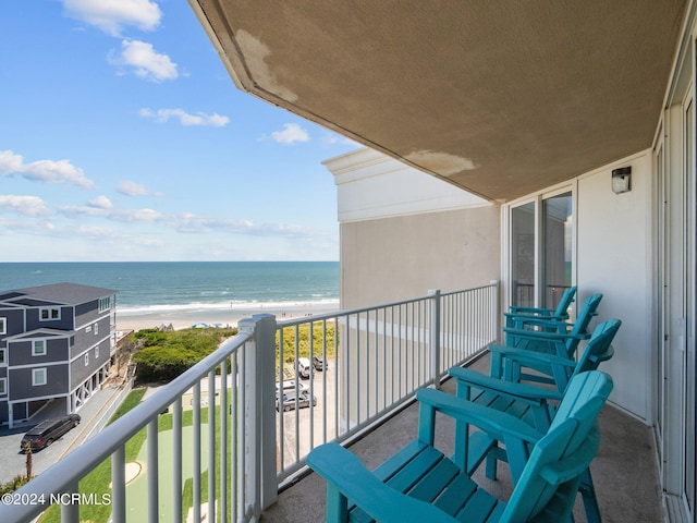
[[[435,419],[432,411],[437,411],[454,419],[474,425],[493,439],[501,441],[509,440],[512,437],[535,443],[543,436],[540,431],[515,416],[496,409],[478,405],[440,390],[419,389],[416,391],[416,399],[419,402],[419,409],[426,408],[426,412],[428,412],[426,418],[429,422],[424,423],[432,424]],[[419,439],[421,439],[420,428],[427,428],[427,426],[421,425],[421,422],[419,422]],[[428,439],[423,438],[421,441],[432,445],[432,441]]]

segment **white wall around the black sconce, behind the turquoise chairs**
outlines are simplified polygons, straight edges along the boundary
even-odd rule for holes
[[[614,194],[612,169],[632,166],[632,191]],[[591,324],[620,318],[613,358],[602,364],[612,375],[610,400],[650,419],[652,263],[650,151],[578,179],[579,300],[601,292]],[[580,303],[580,302],[579,302]]]

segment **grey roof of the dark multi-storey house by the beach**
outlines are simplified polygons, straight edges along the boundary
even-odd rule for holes
[[[52,283],[49,285],[16,289],[0,294],[0,305],[77,305],[114,294],[115,291],[80,283]]]

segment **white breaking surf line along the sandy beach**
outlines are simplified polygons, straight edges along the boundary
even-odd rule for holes
[[[184,304],[152,304],[152,305],[117,305],[120,316],[138,316],[145,314],[192,313],[197,311],[298,311],[321,307],[326,309],[339,308],[338,299],[310,301],[278,301],[278,302],[243,302],[227,301],[218,303],[184,303]]]

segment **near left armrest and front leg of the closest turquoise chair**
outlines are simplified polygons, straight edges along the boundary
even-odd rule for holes
[[[317,447],[307,464],[327,481],[327,521],[346,521],[346,498],[377,521],[453,523],[440,509],[388,487],[338,443]]]

